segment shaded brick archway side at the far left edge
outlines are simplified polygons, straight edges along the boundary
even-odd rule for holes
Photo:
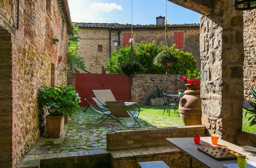
[[[11,34],[0,26],[0,167],[12,167],[15,158],[12,71]]]

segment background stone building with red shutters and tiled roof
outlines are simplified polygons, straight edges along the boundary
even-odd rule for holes
[[[158,17],[159,18],[159,17]],[[161,17],[160,17],[161,18]],[[162,17],[164,18],[164,17]],[[101,67],[115,50],[113,44],[116,38],[119,46],[130,46],[131,24],[118,23],[76,23],[79,27],[80,51],[79,54],[86,60],[87,70],[91,73],[101,73]],[[193,53],[200,70],[199,52],[199,24],[168,25],[168,45],[176,43],[182,51]],[[135,43],[141,41],[152,42],[159,45],[165,40],[164,25],[133,25],[133,38]]]

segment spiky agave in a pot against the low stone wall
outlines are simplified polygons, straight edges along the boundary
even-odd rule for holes
[[[167,93],[167,88],[165,89],[165,91],[163,92],[163,88],[160,87],[156,87],[156,89],[154,89],[154,95],[150,96],[150,104],[151,105],[163,105],[164,104],[164,100],[163,100],[163,93]]]

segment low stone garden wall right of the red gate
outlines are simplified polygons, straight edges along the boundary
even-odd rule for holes
[[[178,94],[179,89],[185,89],[182,75],[165,75],[165,74],[139,74],[132,78],[131,81],[131,101],[140,104],[148,104],[149,96],[155,95],[156,87],[164,87],[168,93]]]

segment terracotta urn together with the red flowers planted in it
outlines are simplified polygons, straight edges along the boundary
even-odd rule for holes
[[[200,72],[188,70],[187,75],[181,78],[187,87],[179,103],[182,122],[184,125],[201,125]]]

